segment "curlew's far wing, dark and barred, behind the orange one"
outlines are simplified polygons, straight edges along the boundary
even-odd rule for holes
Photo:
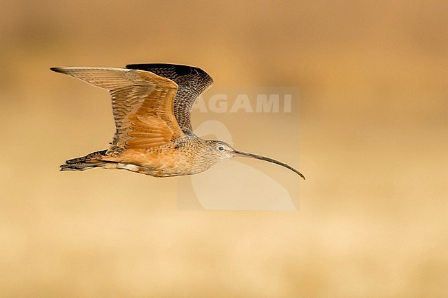
[[[131,64],[133,70],[146,70],[169,78],[179,85],[174,97],[174,116],[185,134],[192,133],[190,114],[199,95],[213,84],[213,79],[198,67],[174,64]]]

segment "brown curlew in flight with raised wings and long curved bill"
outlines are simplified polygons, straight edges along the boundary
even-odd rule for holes
[[[198,67],[153,63],[51,70],[107,89],[116,127],[108,149],[66,160],[61,171],[126,169],[172,177],[201,173],[221,160],[241,156],[279,164],[305,179],[288,164],[235,150],[221,140],[203,140],[193,133],[192,107],[213,83]]]

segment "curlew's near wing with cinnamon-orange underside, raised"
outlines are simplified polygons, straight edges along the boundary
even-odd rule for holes
[[[159,147],[185,136],[174,116],[177,84],[152,72],[115,67],[54,67],[112,95],[116,125],[107,154]]]

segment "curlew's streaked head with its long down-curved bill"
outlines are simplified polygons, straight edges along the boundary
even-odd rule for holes
[[[281,165],[282,167],[285,167],[287,169],[290,169],[297,175],[301,176],[305,180],[305,176],[294,169],[293,167],[289,166],[288,164],[285,164],[283,162],[279,162],[278,160],[274,160],[272,158],[267,158],[265,156],[258,156],[256,154],[252,153],[246,153],[242,151],[235,150],[232,146],[227,144],[226,142],[223,142],[221,140],[206,140],[207,144],[207,154],[212,160],[216,160],[216,162],[219,162],[221,160],[225,160],[227,158],[233,158],[233,157],[245,157],[245,158],[256,158],[258,160],[265,160],[267,162],[272,162],[274,164]]]

